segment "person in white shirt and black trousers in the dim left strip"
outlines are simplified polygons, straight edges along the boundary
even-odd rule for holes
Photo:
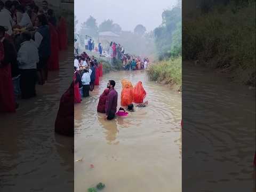
[[[35,42],[31,39],[29,32],[21,34],[21,47],[18,51],[17,60],[20,69],[20,89],[23,99],[36,96],[36,67],[39,62],[38,49]]]

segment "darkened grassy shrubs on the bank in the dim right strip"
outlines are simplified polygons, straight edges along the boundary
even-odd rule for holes
[[[198,60],[242,84],[255,85],[255,2],[216,7],[183,23],[183,59]]]

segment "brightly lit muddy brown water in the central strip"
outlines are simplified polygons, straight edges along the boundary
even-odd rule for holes
[[[142,81],[149,105],[106,121],[97,113],[99,96],[114,79],[119,108],[123,78]],[[145,71],[106,74],[90,94],[75,105],[74,156],[83,158],[74,163],[75,191],[99,182],[105,192],[181,191],[181,94],[148,81]]]

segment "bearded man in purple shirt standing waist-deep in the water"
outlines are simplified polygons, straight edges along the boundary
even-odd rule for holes
[[[105,106],[105,111],[106,111],[106,119],[111,120],[115,117],[116,114],[116,108],[117,108],[117,92],[114,89],[116,85],[116,82],[113,80],[110,80],[108,82],[108,89],[110,92],[108,93],[107,101],[106,101],[106,106]]]

